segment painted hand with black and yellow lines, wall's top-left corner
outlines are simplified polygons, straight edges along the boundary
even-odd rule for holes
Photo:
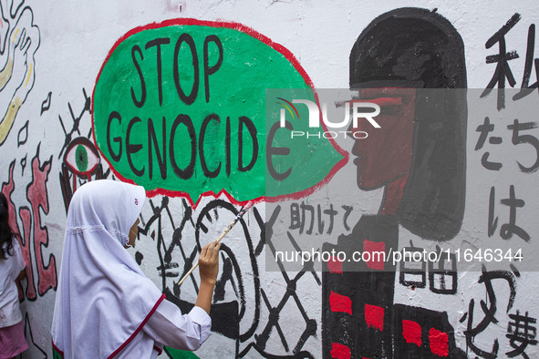
[[[34,56],[39,47],[39,28],[34,24],[32,9],[24,3],[0,2],[0,146],[36,77]]]

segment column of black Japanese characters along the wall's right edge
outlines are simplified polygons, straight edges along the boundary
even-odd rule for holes
[[[491,50],[493,46],[498,45],[498,54],[485,58],[487,65],[492,67],[492,64],[495,64],[495,67],[492,78],[482,91],[481,97],[493,97],[492,90],[495,87],[497,90],[494,97],[495,103],[492,103],[492,116],[484,117],[474,128],[477,138],[474,151],[478,152],[478,160],[474,165],[478,166],[489,178],[486,181],[488,188],[485,192],[485,197],[488,197],[488,207],[483,214],[485,234],[492,241],[502,239],[515,242],[518,247],[521,246],[520,243],[534,242],[534,225],[530,221],[522,220],[523,215],[533,212],[530,202],[533,205],[534,200],[526,196],[521,186],[531,180],[530,176],[539,168],[537,122],[530,121],[534,119],[534,116],[530,117],[532,114],[529,113],[518,113],[517,118],[513,115],[514,108],[526,106],[525,98],[528,97],[529,100],[529,97],[534,96],[539,83],[535,81],[530,84],[533,74],[535,79],[539,80],[539,58],[534,58],[534,24],[528,26],[525,37],[526,52],[523,59],[521,87],[515,88],[514,91],[506,89],[506,85],[515,87],[517,84],[508,61],[520,57],[517,51],[510,49],[511,45],[508,45],[506,36],[512,31],[517,31],[513,28],[518,28],[517,25],[521,20],[522,16],[515,13],[499,29],[493,29],[495,31],[492,31],[492,36],[484,44],[485,48]],[[510,115],[507,116],[508,114]],[[507,143],[512,145],[505,145],[509,156],[502,158],[495,149]],[[523,144],[527,146],[520,146]],[[496,191],[500,187],[499,183],[496,186],[496,175],[504,170],[511,172],[511,180],[504,181],[503,188]],[[528,203],[527,207],[526,203]],[[510,252],[502,254],[505,257],[512,255]],[[482,266],[478,283],[484,285],[486,297],[479,303],[472,299],[468,303],[468,311],[460,319],[461,323],[466,324],[464,335],[466,345],[470,349],[469,354],[483,358],[536,356],[537,344],[539,344],[536,340],[536,311],[528,311],[522,307],[515,308],[515,297],[522,280],[519,268],[525,266],[526,263],[523,262],[523,257],[523,252],[520,250],[513,253],[515,262],[511,263],[507,270],[489,270],[486,265]],[[523,292],[523,287],[520,288],[520,292]],[[500,300],[500,297],[503,300]],[[482,308],[481,311],[477,309],[474,311],[477,306]],[[500,320],[507,322],[506,333],[501,336],[492,336],[489,330]],[[480,338],[486,338],[482,344],[478,344]],[[503,341],[507,341],[508,345],[503,346]]]

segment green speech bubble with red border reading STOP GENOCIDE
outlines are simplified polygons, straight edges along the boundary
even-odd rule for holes
[[[239,202],[258,199],[266,195],[266,88],[306,88],[313,97],[294,56],[245,26],[178,19],[135,28],[98,75],[94,139],[115,175],[149,195],[193,201],[224,191]],[[334,163],[317,169],[312,183],[272,196],[327,177],[342,156],[319,142]],[[303,158],[295,166],[312,164]]]

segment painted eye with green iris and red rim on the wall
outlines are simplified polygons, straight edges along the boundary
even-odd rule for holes
[[[97,167],[101,159],[98,150],[88,138],[75,138],[66,150],[64,162],[67,167],[79,176],[88,177]]]

